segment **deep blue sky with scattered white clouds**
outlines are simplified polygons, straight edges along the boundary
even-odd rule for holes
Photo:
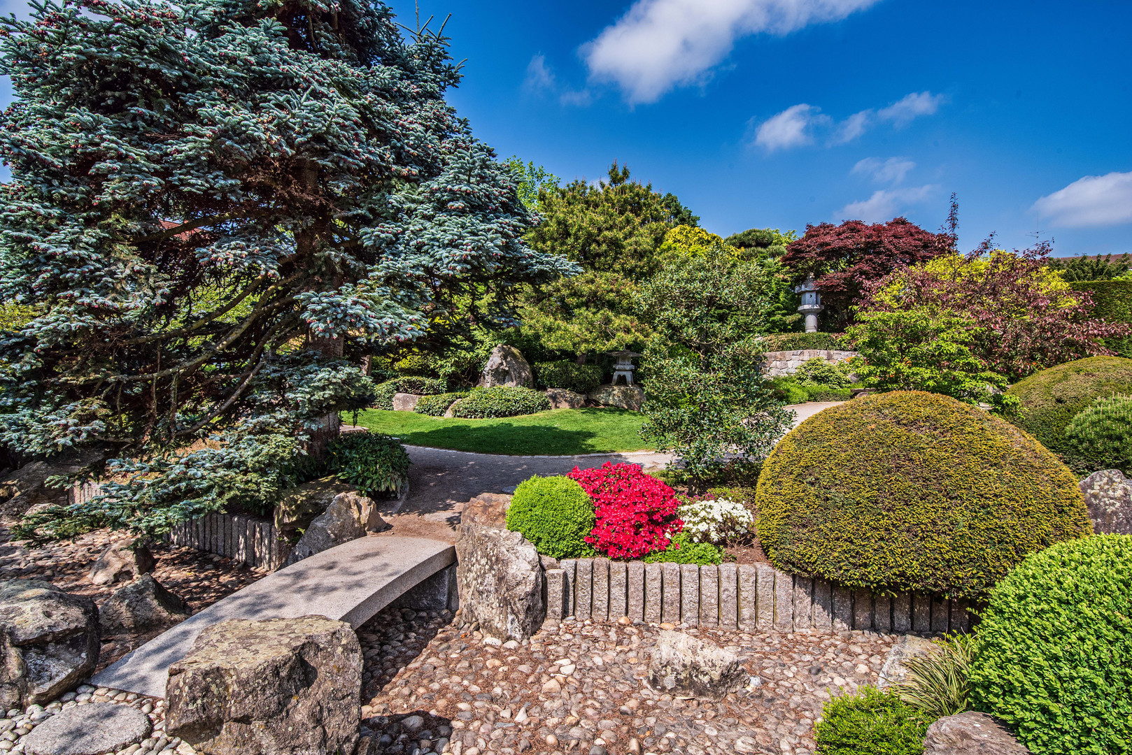
[[[717,233],[899,214],[936,230],[954,191],[964,248],[1038,230],[1057,255],[1132,251],[1126,0],[420,7],[452,14],[468,63],[451,101],[501,156],[564,179],[627,163]]]

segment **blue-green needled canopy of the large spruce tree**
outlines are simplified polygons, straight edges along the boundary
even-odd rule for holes
[[[0,22],[0,297],[33,314],[0,335],[0,440],[115,448],[103,521],[269,499],[365,391],[343,341],[572,269],[445,102],[443,28],[379,0],[33,7]]]

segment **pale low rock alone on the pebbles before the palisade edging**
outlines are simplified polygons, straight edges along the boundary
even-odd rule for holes
[[[738,655],[683,632],[661,629],[649,661],[649,686],[677,697],[722,700],[749,678]]]

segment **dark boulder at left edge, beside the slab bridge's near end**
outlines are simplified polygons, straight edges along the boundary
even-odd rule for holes
[[[50,582],[0,583],[0,707],[54,700],[98,662],[98,609]]]

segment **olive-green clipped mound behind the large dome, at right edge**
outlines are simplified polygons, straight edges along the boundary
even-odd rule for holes
[[[1049,451],[1065,453],[1065,428],[1097,398],[1132,394],[1132,359],[1089,357],[1035,372],[1006,392],[1019,401],[1010,421]]]

